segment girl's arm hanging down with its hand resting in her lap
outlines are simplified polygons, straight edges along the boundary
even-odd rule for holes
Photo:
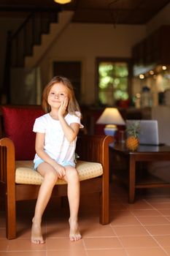
[[[53,168],[57,171],[59,178],[62,178],[66,174],[66,170],[63,166],[59,165],[52,159],[44,150],[45,143],[45,133],[36,132],[36,143],[35,149],[36,154],[45,162],[52,165]]]

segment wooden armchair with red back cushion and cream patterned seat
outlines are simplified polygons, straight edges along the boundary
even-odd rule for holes
[[[0,113],[0,196],[6,204],[6,236],[13,239],[16,238],[16,202],[36,199],[43,179],[32,170],[35,154],[32,125],[35,118],[42,115],[42,110],[37,106],[1,106]],[[111,142],[112,138],[105,135],[81,135],[77,139],[80,194],[100,193],[99,221],[102,225],[109,223]],[[66,196],[65,182],[59,180],[57,184],[52,197]]]

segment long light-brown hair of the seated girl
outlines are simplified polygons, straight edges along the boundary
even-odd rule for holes
[[[47,83],[47,86],[45,86],[45,89],[43,91],[42,94],[42,108],[43,110],[45,110],[45,113],[49,113],[51,110],[50,105],[47,102],[47,97],[50,93],[50,89],[52,88],[52,86],[55,83],[63,83],[63,86],[66,86],[66,88],[69,91],[68,97],[69,97],[69,103],[67,106],[67,111],[68,113],[74,114],[77,116],[77,111],[80,112],[80,106],[77,102],[77,99],[75,98],[74,95],[74,89],[72,86],[72,83],[70,82],[70,80],[68,78],[64,78],[61,76],[55,76],[54,78],[52,78],[52,80],[50,80],[49,83]]]

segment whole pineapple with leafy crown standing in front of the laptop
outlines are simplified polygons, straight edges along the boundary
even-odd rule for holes
[[[139,131],[140,121],[134,121],[127,129],[127,139],[125,140],[125,146],[135,151],[139,146]]]

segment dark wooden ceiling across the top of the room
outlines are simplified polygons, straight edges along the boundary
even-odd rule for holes
[[[11,15],[12,10],[18,13],[37,7],[61,7],[74,11],[72,22],[144,24],[169,3],[170,0],[72,0],[61,5],[53,0],[0,0],[0,12],[4,17]]]

